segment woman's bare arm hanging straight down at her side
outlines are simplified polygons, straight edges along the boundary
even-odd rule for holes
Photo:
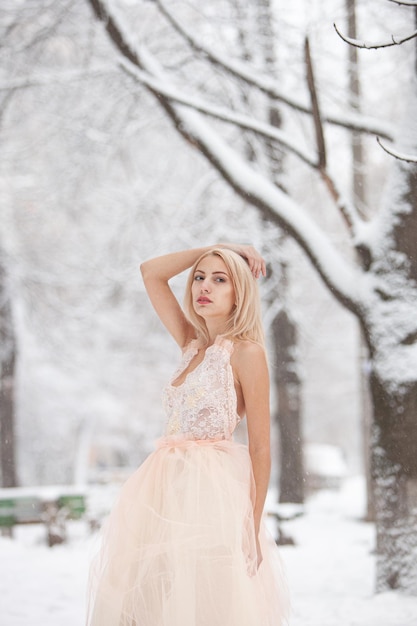
[[[245,403],[249,454],[256,487],[253,516],[258,537],[271,472],[269,372],[261,346],[246,341],[237,346],[236,374]]]

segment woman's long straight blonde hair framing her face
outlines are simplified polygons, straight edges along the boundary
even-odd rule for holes
[[[249,340],[265,347],[264,331],[261,319],[261,303],[256,279],[252,276],[246,261],[236,252],[225,248],[213,248],[205,252],[194,263],[188,276],[184,309],[197,335],[209,342],[209,333],[206,323],[198,315],[193,306],[191,286],[198,264],[207,256],[220,257],[227,267],[235,291],[236,306],[233,308],[226,322],[222,336],[233,340]]]

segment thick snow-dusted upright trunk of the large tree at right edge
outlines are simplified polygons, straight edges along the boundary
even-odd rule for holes
[[[417,153],[410,85],[400,145]],[[377,590],[417,595],[417,165],[393,160],[374,247],[379,302],[369,311]],[[379,246],[379,244],[382,244]]]

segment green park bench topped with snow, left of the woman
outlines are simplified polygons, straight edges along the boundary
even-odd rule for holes
[[[0,489],[0,531],[9,537],[19,524],[44,524],[49,546],[63,543],[66,524],[86,512],[86,494],[67,486]]]

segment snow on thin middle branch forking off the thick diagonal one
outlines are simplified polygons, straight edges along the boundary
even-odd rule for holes
[[[306,151],[302,150],[302,148],[296,146],[287,133],[282,130],[275,128],[270,124],[250,118],[247,115],[242,115],[241,113],[228,110],[224,107],[214,106],[200,98],[185,96],[183,93],[180,93],[178,89],[168,85],[166,82],[162,82],[161,80],[149,76],[149,74],[133,67],[132,64],[129,64],[127,61],[121,60],[120,65],[130,76],[133,76],[135,79],[147,87],[150,87],[168,100],[172,100],[178,104],[183,104],[191,109],[194,109],[195,111],[205,113],[206,115],[222,120],[223,122],[231,123],[239,128],[252,131],[262,137],[272,139],[283,148],[286,148],[298,156],[310,167],[318,168],[318,163],[314,158],[314,155],[308,154]]]

